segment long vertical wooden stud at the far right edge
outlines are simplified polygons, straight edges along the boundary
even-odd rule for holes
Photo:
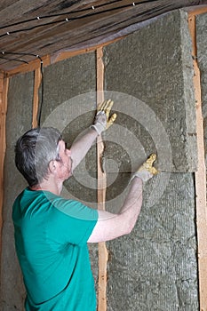
[[[206,167],[203,141],[203,114],[201,99],[200,70],[197,63],[195,15],[190,16],[188,25],[193,43],[194,86],[196,101],[196,127],[198,146],[198,170],[195,172],[196,223],[198,241],[199,299],[200,310],[207,310],[207,209],[206,209]]]

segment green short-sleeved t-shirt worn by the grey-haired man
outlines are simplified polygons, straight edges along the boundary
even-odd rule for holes
[[[26,310],[94,311],[87,240],[98,211],[26,188],[13,204],[12,219],[27,290]]]

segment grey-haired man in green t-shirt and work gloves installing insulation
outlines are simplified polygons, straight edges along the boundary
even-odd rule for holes
[[[113,101],[98,108],[96,119],[70,149],[53,128],[33,129],[17,141],[15,163],[28,187],[13,204],[15,246],[27,291],[26,310],[95,311],[96,295],[87,243],[131,232],[142,203],[143,181],[157,171],[155,155],[131,178],[119,213],[96,211],[60,196],[93,141],[114,123]]]

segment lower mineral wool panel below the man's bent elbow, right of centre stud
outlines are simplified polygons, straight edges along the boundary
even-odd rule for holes
[[[147,183],[131,234],[107,242],[108,311],[199,310],[194,175],[161,175],[168,182]]]

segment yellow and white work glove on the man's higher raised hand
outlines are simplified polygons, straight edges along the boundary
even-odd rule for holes
[[[95,129],[99,135],[115,122],[116,114],[109,117],[113,104],[114,101],[112,100],[104,100],[98,105],[95,121],[91,127]]]

